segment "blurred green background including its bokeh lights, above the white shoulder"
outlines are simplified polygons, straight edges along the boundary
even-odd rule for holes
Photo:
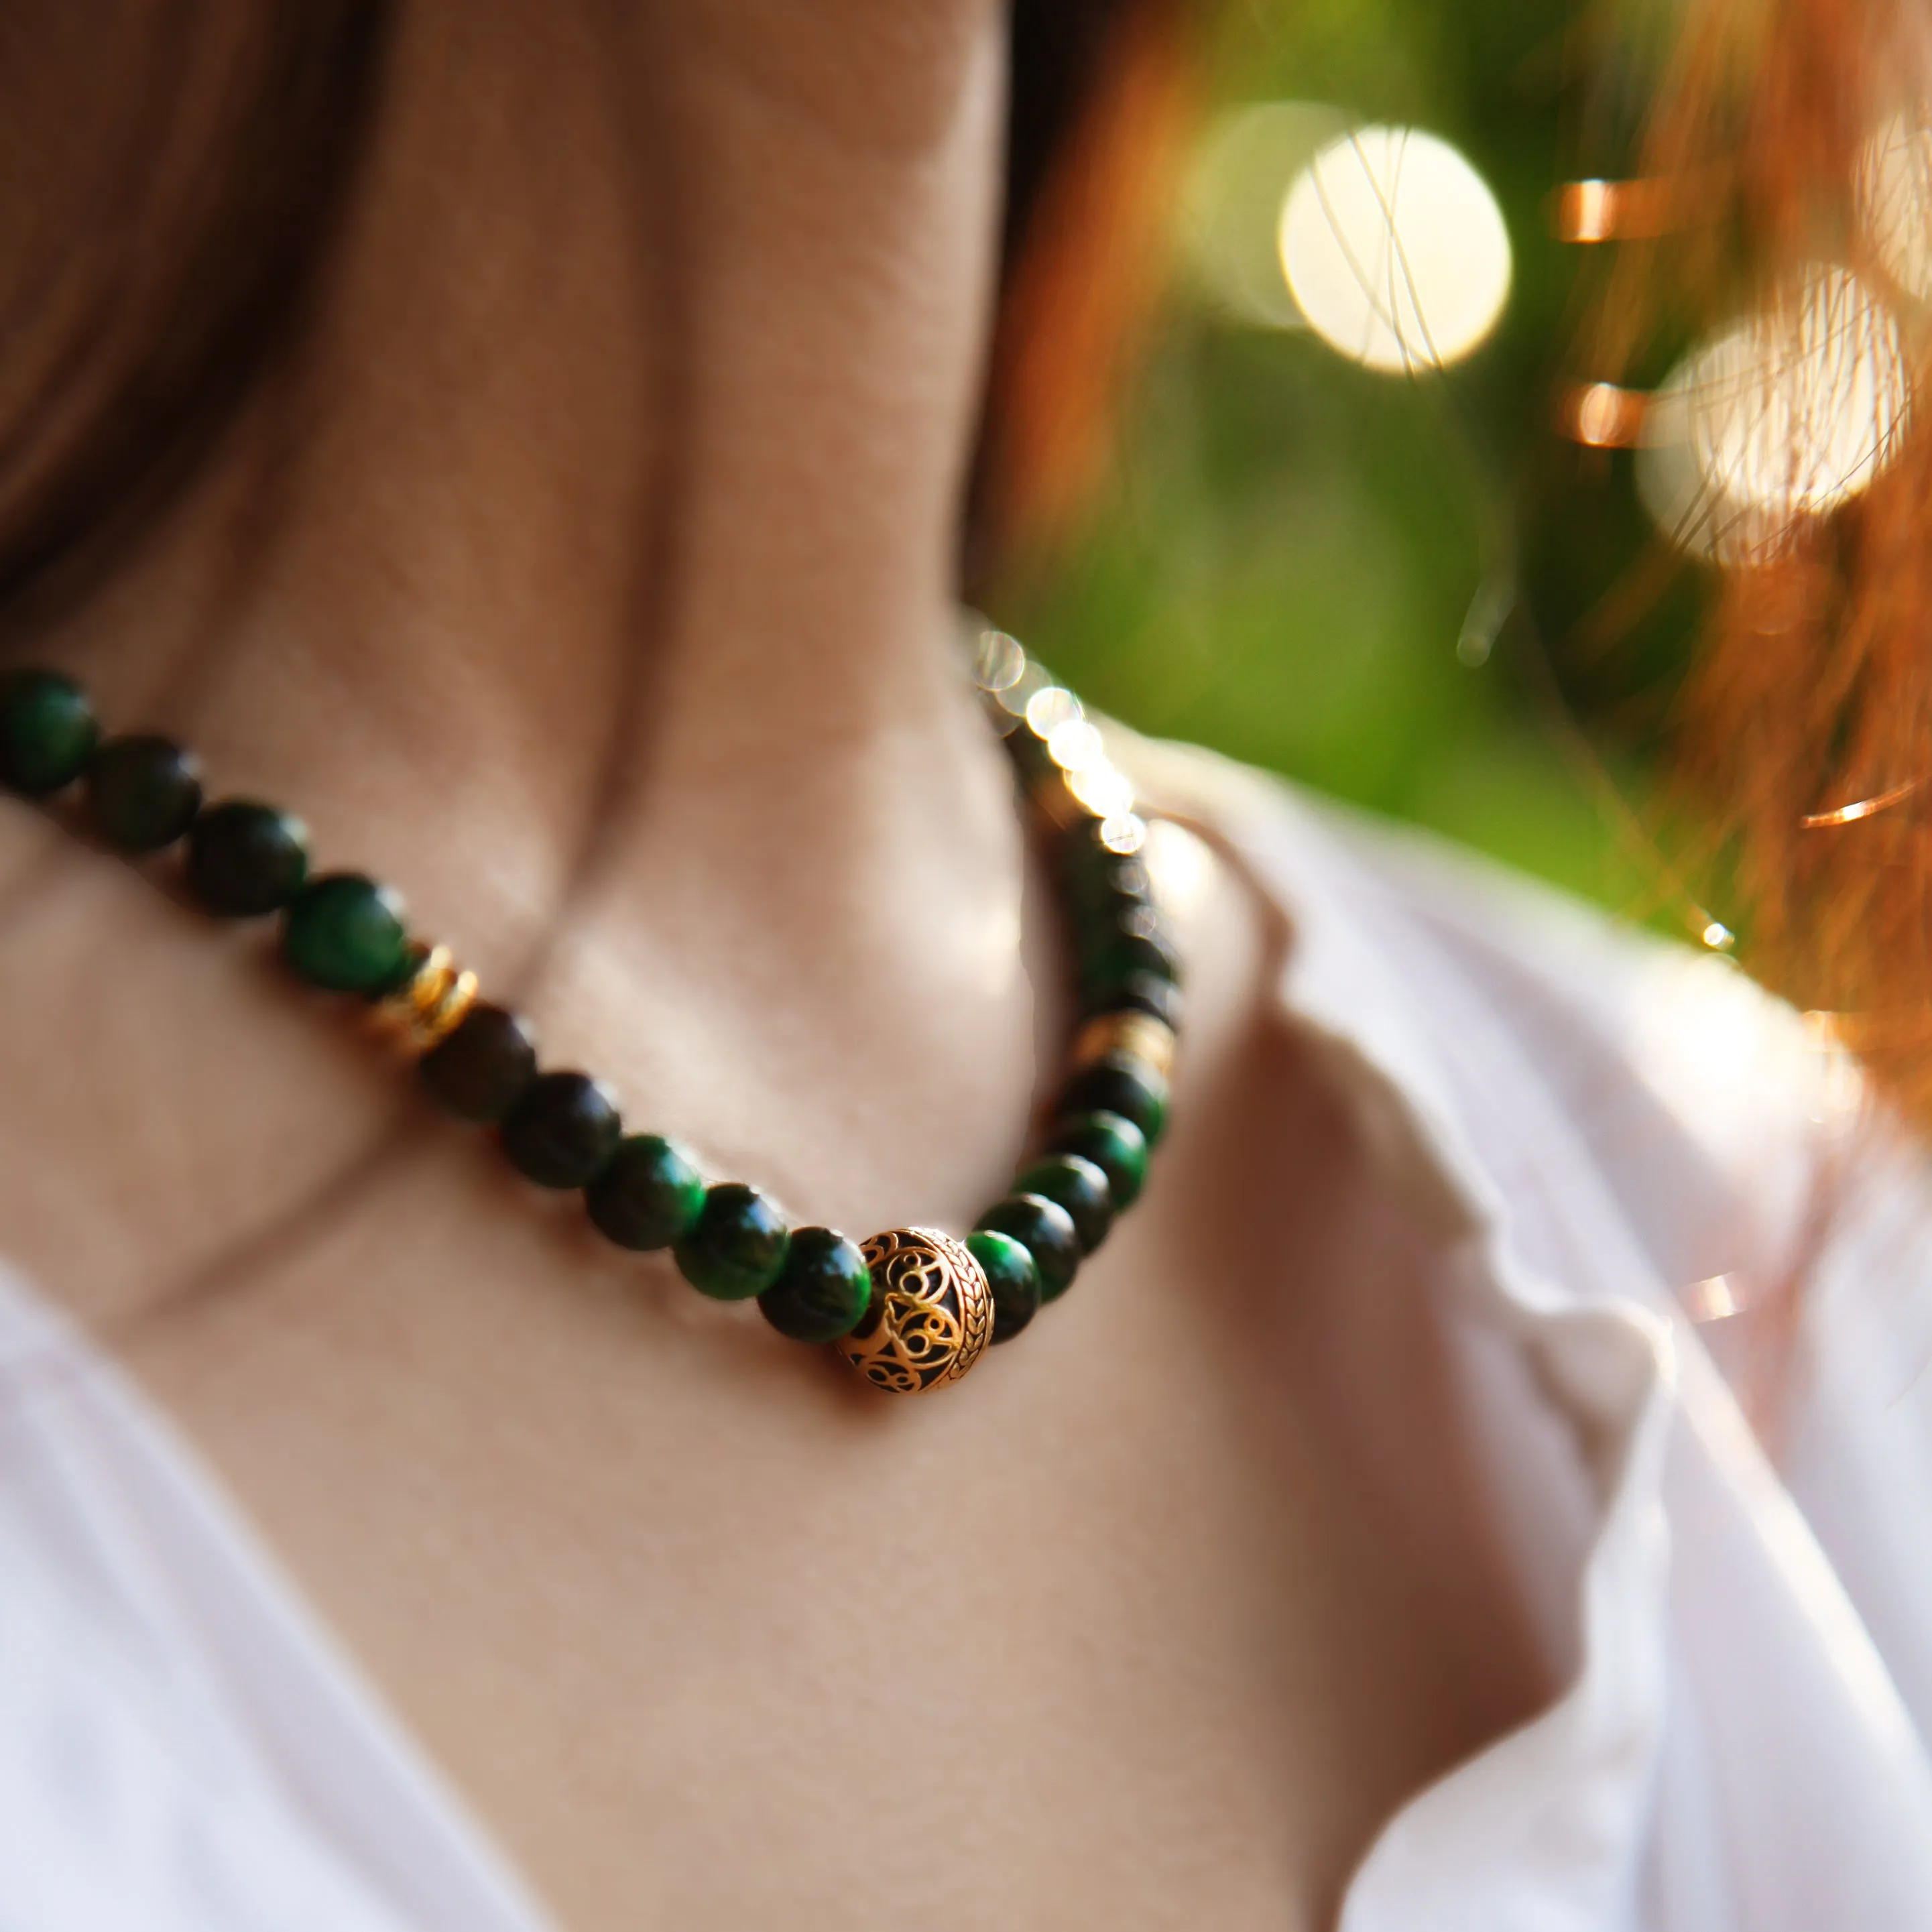
[[[1727,336],[1650,313],[1594,381],[1609,257],[1683,226],[1617,185],[1667,62],[1646,19],[1144,10],[1009,236],[1009,311],[1053,327],[995,369],[970,582],[1142,730],[1727,951],[1721,838],[1667,782],[1698,626],[1768,516],[1882,468],[1905,377],[1837,274]]]

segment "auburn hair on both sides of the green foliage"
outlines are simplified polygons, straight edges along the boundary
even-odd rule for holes
[[[1153,214],[1192,99],[1198,12],[1121,10],[1059,178],[1018,240],[981,468],[983,522],[1007,543],[1051,545],[1105,469],[1111,404],[1155,288]],[[1627,25],[1604,17],[1584,39],[1609,46]],[[1913,0],[1690,0],[1623,201],[1642,218],[1590,294],[1575,373],[1629,381],[1654,369],[1660,340],[1789,311],[1806,274],[1835,263],[1893,303],[1907,375],[1922,377],[1932,327],[1876,257],[1864,197],[1874,131],[1897,112],[1932,129],[1928,52],[1932,15]],[[1924,417],[1907,408],[1861,495],[1712,574],[1671,707],[1673,806],[1660,819],[1675,827],[1667,869],[1737,927],[1745,964],[1932,1122]]]

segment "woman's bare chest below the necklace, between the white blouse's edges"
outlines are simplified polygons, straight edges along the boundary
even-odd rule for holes
[[[1314,1924],[1548,1683],[1416,1532],[1432,1238],[1269,1107],[933,1399],[421,1184],[143,1370],[574,1928]]]

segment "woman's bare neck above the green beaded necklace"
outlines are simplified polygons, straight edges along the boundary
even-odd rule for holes
[[[999,1184],[1053,1020],[951,651],[1001,21],[916,15],[415,10],[299,379],[56,645],[110,721],[182,730],[218,792],[396,883],[638,1124],[860,1227]],[[149,941],[44,943],[112,978]],[[195,974],[170,954],[143,1001]],[[118,1192],[137,1273],[218,1248],[180,1204],[245,1198],[238,1161],[340,1169],[394,1105],[325,1082],[340,1041],[278,1036],[288,1119],[251,1132],[276,1026],[230,1010],[220,1065],[133,1009],[93,1041],[226,1122],[168,1180],[180,1240]],[[37,1126],[46,1171],[116,1159],[71,1124]]]

